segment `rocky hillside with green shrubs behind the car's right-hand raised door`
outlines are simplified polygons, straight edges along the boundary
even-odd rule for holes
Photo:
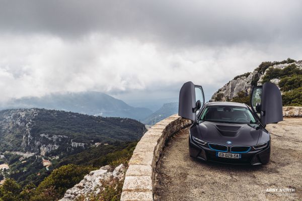
[[[238,75],[219,88],[211,100],[249,105],[253,87],[267,81],[279,86],[283,106],[302,106],[302,60],[295,61],[290,58],[280,62],[262,62],[253,72]]]

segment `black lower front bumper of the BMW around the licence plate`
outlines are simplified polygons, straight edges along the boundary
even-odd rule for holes
[[[230,152],[226,152],[230,153]],[[204,161],[214,161],[220,163],[231,163],[231,164],[250,164],[260,165],[267,164],[270,160],[270,142],[268,146],[261,150],[252,150],[248,153],[241,153],[240,159],[235,158],[221,158],[216,156],[216,151],[210,149],[207,145],[201,146],[189,137],[189,154],[191,157],[198,158]]]

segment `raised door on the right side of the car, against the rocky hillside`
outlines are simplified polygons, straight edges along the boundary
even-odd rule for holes
[[[254,87],[250,102],[262,125],[283,121],[282,96],[276,84],[265,82],[262,86]]]

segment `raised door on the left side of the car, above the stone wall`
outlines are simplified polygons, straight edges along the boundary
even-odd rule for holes
[[[202,86],[189,81],[183,84],[179,92],[178,115],[192,121],[196,120],[196,113],[204,104]]]

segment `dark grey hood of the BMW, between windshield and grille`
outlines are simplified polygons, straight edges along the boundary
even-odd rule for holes
[[[201,122],[198,127],[202,140],[227,146],[256,145],[261,132],[257,124]],[[232,144],[226,144],[228,141],[231,141]]]

